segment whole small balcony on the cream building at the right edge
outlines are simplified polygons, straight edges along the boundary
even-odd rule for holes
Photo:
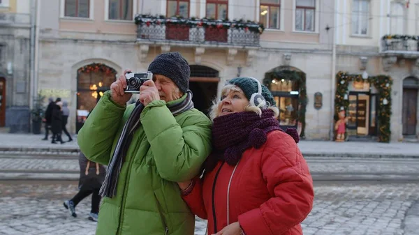
[[[385,35],[381,38],[381,54],[418,58],[419,36]]]

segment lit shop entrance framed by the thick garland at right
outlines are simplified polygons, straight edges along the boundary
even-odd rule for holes
[[[349,92],[348,135],[365,137],[376,135],[377,99],[369,92]]]

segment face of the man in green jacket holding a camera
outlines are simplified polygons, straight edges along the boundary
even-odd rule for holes
[[[153,82],[156,84],[157,90],[159,90],[159,96],[161,100],[166,102],[177,100],[183,96],[179,87],[172,81],[172,79],[163,75],[153,75]]]

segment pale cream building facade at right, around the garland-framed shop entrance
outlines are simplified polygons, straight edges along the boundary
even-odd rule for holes
[[[366,77],[385,75],[392,78],[392,142],[418,140],[418,22],[418,0],[336,2],[335,24],[340,25],[336,28],[335,38],[337,71],[353,75],[366,72]],[[354,139],[371,136],[374,139],[380,132],[378,114],[379,107],[383,105],[383,96],[374,85],[370,84],[369,87],[365,90],[353,86],[348,90],[348,100],[353,105],[353,114],[349,114],[352,121],[348,123],[351,130],[348,131]],[[367,110],[360,105],[366,105]]]

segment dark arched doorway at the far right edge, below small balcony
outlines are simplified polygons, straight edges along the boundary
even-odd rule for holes
[[[419,79],[407,77],[403,80],[403,135],[416,135],[418,124]]]

